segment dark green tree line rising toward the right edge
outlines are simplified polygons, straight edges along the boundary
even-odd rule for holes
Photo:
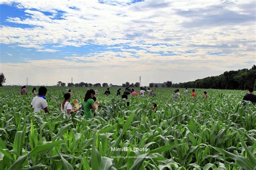
[[[224,72],[218,76],[206,77],[195,81],[174,83],[174,88],[213,88],[246,90],[249,87],[256,88],[256,66],[251,69],[239,69]]]

